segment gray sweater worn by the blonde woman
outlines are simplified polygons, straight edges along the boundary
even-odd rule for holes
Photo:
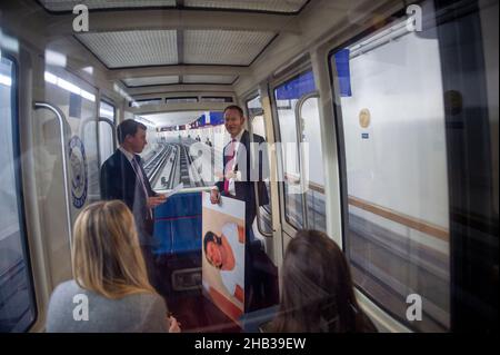
[[[50,297],[46,328],[50,333],[167,333],[167,307],[154,294],[109,299],[69,280]]]

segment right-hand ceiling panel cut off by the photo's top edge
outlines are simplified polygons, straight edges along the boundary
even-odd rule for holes
[[[184,0],[184,7],[293,13],[308,0]]]

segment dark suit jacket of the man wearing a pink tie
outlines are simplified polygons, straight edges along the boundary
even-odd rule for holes
[[[236,193],[234,198],[246,203],[247,225],[252,224],[257,215],[257,201],[254,193],[256,185],[259,194],[259,206],[264,206],[269,204],[268,190],[266,188],[266,184],[263,183],[263,180],[269,176],[266,140],[261,136],[253,135],[253,144],[254,144],[253,154],[257,155],[257,152],[259,152],[259,158],[252,160],[250,149],[250,134],[246,130],[241,136],[240,146],[237,152],[237,162],[234,167],[236,171],[241,171],[241,180],[242,180],[242,181],[234,181],[234,193]],[[260,149],[259,146],[257,146],[257,144],[260,145]],[[224,168],[229,160],[229,157],[227,156],[226,152],[226,150],[229,149],[229,145],[230,142],[224,147],[223,150]],[[244,147],[244,149],[242,147]],[[247,154],[244,154],[244,150],[247,150]],[[224,180],[218,181],[216,184],[217,187],[219,188],[219,191],[221,191],[222,195],[226,195],[223,193]]]

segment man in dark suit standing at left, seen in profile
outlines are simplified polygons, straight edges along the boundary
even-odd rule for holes
[[[142,168],[140,152],[148,144],[147,127],[132,119],[124,120],[117,128],[120,147],[101,167],[101,198],[120,199],[133,214],[139,241],[144,256],[151,285],[157,287],[152,256],[153,208],[167,197],[154,193]]]

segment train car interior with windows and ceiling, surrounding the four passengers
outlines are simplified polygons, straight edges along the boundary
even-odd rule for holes
[[[379,332],[498,331],[498,16],[497,0],[2,0],[0,333],[46,331],[127,119],[170,194],[152,253],[182,332],[266,329],[301,229],[340,246]],[[232,105],[269,167],[251,225],[264,296],[238,322],[202,273]]]

